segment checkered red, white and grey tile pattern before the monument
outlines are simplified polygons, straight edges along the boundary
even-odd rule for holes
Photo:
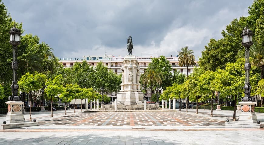
[[[224,126],[225,122],[182,112],[97,112],[77,113],[42,120],[39,125],[66,126]]]

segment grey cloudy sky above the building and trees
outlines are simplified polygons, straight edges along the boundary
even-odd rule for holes
[[[2,0],[12,19],[49,44],[59,58],[125,56],[127,36],[136,56],[195,58],[233,19],[248,16],[253,0]]]

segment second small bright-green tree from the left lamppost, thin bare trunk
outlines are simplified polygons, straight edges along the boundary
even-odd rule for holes
[[[46,85],[45,93],[48,99],[50,99],[51,101],[51,106],[50,106],[51,107],[51,117],[53,117],[52,101],[56,99],[55,96],[63,93],[64,91],[62,82],[63,82],[62,75],[57,75],[54,79],[50,78],[45,84]]]

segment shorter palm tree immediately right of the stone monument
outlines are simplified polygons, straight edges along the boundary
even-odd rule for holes
[[[150,63],[147,66],[147,69],[145,70],[144,74],[142,74],[141,79],[142,83],[144,85],[148,85],[150,87],[150,101],[152,97],[152,89],[155,84],[161,85],[162,80],[161,80],[162,74],[157,70],[157,66],[153,63]]]

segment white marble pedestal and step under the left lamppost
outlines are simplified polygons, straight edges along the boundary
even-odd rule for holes
[[[19,127],[37,126],[36,122],[25,122],[24,115],[22,113],[22,101],[8,101],[8,113],[6,114],[6,124],[0,124],[1,129],[11,129]]]

